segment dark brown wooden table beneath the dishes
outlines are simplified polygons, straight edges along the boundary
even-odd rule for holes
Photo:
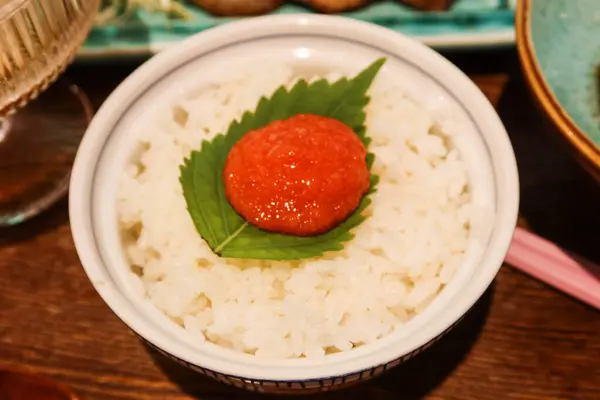
[[[496,105],[535,231],[600,260],[596,186],[552,140],[516,53],[448,54]],[[67,76],[98,106],[135,64]],[[245,399],[150,351],[102,302],[71,240],[67,203],[0,230],[0,366],[59,379],[88,400]],[[600,312],[504,266],[455,331],[384,377],[323,399],[600,399]]]

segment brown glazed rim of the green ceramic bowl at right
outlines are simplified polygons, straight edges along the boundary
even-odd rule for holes
[[[517,49],[525,79],[533,91],[537,101],[546,111],[550,120],[567,141],[578,150],[591,165],[600,168],[600,147],[598,147],[577,126],[567,111],[560,104],[552,89],[548,85],[542,68],[535,55],[533,39],[531,37],[531,7],[534,0],[520,0],[517,2],[515,13],[515,29],[517,36]]]

